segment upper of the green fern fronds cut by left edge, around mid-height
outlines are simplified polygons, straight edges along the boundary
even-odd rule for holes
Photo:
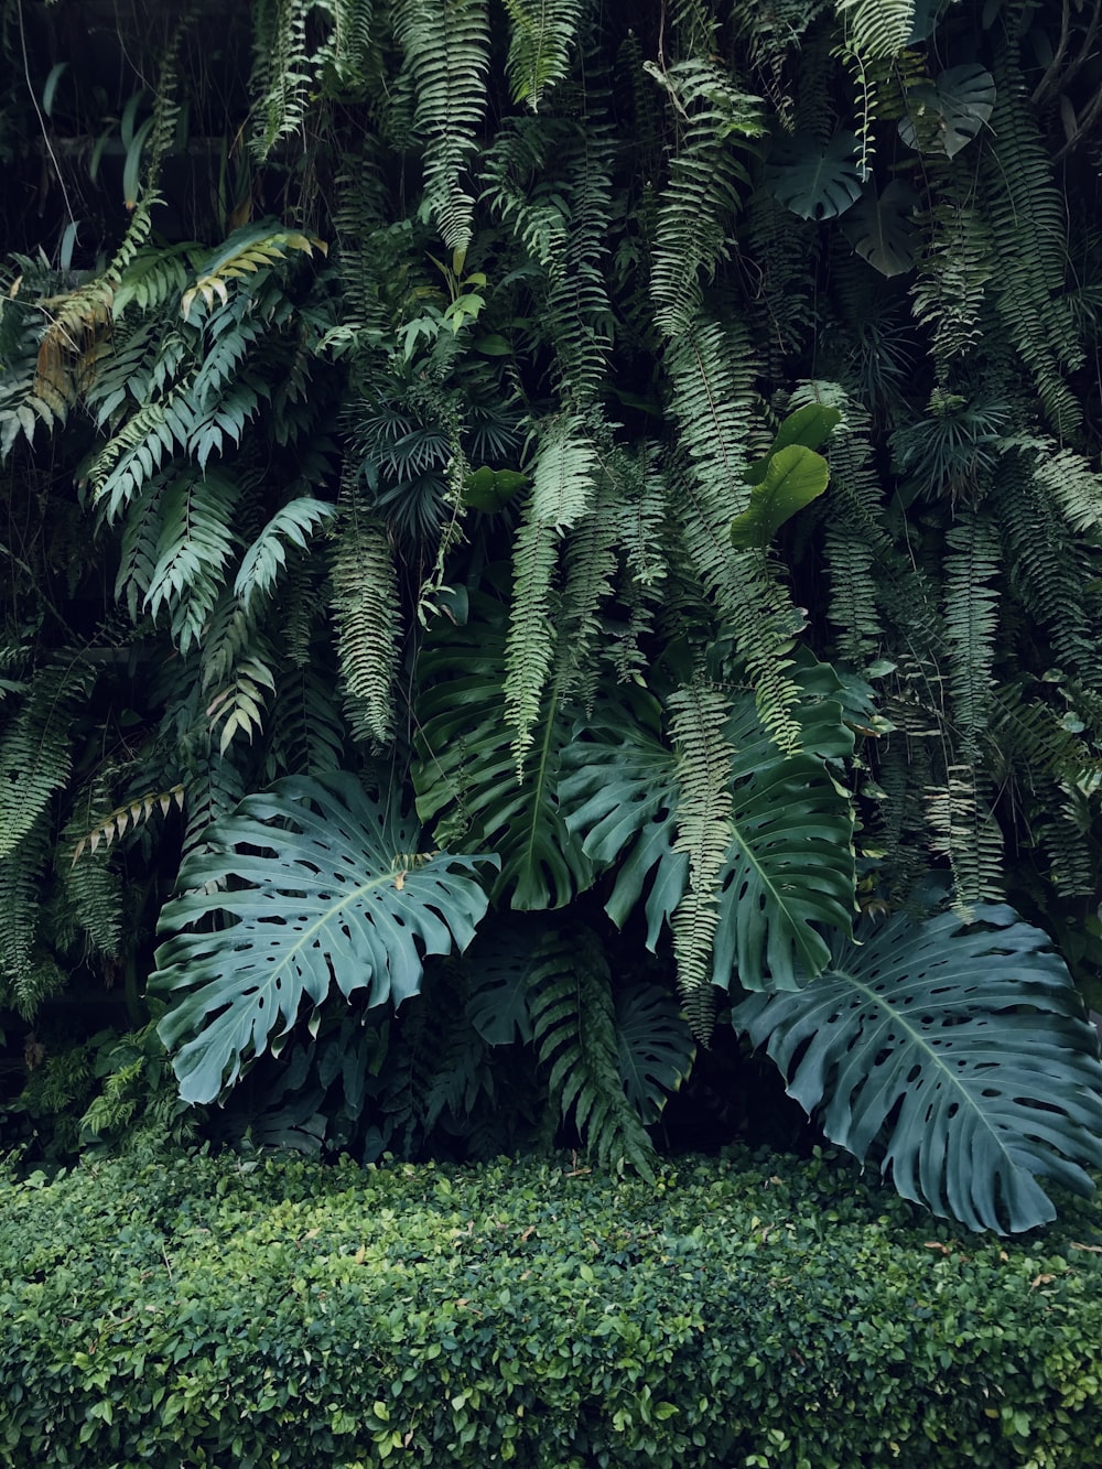
[[[0,859],[29,836],[69,779],[72,721],[94,682],[79,654],[59,654],[32,674],[0,736]]]

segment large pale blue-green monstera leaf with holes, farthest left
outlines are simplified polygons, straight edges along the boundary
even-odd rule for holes
[[[291,776],[247,796],[181,868],[150,989],[181,1096],[210,1102],[336,987],[400,1005],[422,958],[466,949],[486,911],[480,862],[419,852],[420,829],[350,774]]]

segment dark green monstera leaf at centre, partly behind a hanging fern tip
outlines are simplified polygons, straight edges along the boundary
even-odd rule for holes
[[[495,898],[510,895],[520,911],[564,906],[589,886],[592,870],[558,812],[558,751],[570,726],[554,683],[519,782],[513,730],[503,718],[504,607],[472,593],[470,621],[453,627],[441,620],[419,668],[417,815],[436,821],[439,845],[458,839],[498,852]]]

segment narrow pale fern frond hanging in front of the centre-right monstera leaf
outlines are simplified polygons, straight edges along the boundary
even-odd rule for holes
[[[677,905],[673,952],[677,984],[694,1034],[707,1040],[713,1021],[711,952],[719,925],[719,877],[733,836],[733,749],[724,734],[730,699],[696,680],[670,695],[670,737],[677,749],[677,840],[689,881]]]

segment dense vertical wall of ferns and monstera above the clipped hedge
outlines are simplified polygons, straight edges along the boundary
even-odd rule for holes
[[[1090,1191],[1098,0],[0,68],[0,1152]]]

